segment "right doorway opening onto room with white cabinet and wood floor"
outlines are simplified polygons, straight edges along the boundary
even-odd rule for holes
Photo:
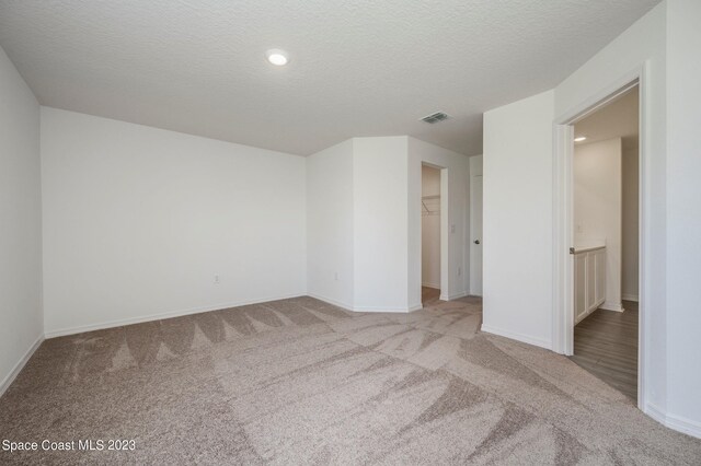
[[[572,360],[637,399],[639,86],[574,124]]]

